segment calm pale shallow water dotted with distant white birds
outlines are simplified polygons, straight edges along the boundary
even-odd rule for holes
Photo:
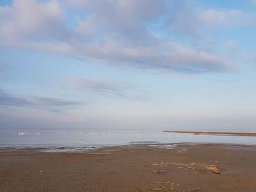
[[[50,151],[88,151],[98,147],[129,145],[131,142],[159,142],[170,146],[181,142],[256,145],[256,137],[169,134],[152,130],[0,129],[0,147],[43,147]]]

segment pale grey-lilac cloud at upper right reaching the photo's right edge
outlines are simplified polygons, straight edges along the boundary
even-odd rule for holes
[[[212,30],[242,26],[255,26],[256,15],[238,9],[181,9],[169,18],[167,25],[173,34],[204,39]]]

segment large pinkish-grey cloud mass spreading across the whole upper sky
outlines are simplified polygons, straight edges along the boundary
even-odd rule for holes
[[[194,38],[209,28],[255,25],[254,15],[241,10],[188,8],[189,1],[179,2],[15,0],[11,7],[0,7],[0,46],[138,69],[196,73],[236,70],[214,51],[181,45],[163,34]],[[72,25],[65,16],[69,7],[73,17],[80,18]]]

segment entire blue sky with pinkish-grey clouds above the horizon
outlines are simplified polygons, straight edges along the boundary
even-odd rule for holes
[[[2,0],[0,128],[256,131],[255,34],[255,0]]]

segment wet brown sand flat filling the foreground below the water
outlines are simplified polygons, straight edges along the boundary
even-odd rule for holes
[[[0,191],[256,191],[256,147],[108,147],[94,153],[0,149]]]

